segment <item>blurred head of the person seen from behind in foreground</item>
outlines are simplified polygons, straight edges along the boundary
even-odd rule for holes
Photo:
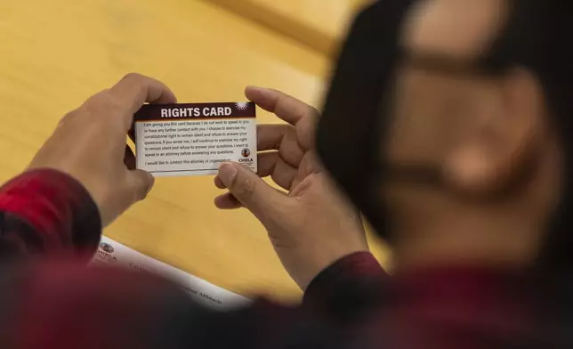
[[[399,264],[568,255],[571,6],[384,0],[359,17],[318,145]]]

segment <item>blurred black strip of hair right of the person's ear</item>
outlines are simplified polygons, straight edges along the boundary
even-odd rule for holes
[[[511,61],[539,80],[549,115],[561,132],[565,183],[561,203],[542,251],[543,269],[573,267],[573,4],[566,0],[512,0],[503,31],[487,61]]]

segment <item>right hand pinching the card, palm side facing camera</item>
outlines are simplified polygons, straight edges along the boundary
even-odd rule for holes
[[[288,193],[245,166],[227,163],[220,166],[215,185],[230,192],[217,197],[215,205],[248,208],[268,231],[286,272],[305,289],[336,260],[368,249],[364,226],[316,158],[319,112],[274,90],[248,87],[246,97],[290,124],[258,128],[258,175],[270,175]]]

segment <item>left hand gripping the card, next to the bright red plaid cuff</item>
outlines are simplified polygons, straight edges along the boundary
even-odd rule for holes
[[[28,169],[53,168],[76,178],[100,209],[103,226],[108,225],[153,186],[152,175],[133,169],[133,152],[125,143],[133,113],[145,102],[176,99],[155,79],[126,75],[62,118]]]

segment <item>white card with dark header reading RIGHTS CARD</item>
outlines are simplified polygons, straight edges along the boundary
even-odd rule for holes
[[[137,168],[152,175],[215,175],[228,161],[257,170],[252,102],[147,104],[134,121]]]

